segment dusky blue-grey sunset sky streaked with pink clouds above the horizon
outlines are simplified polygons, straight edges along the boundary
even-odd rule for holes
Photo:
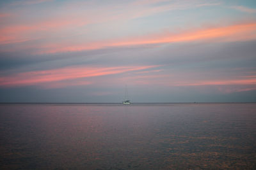
[[[256,102],[256,1],[0,1],[1,103]]]

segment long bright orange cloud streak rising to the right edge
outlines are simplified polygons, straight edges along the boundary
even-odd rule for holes
[[[109,41],[98,41],[94,43],[85,43],[80,45],[52,44],[42,46],[38,53],[57,53],[57,52],[77,52],[82,50],[96,50],[107,47],[134,46],[134,45],[152,45],[162,43],[179,43],[188,41],[202,41],[209,39],[221,39],[222,41],[244,41],[256,39],[256,22],[247,24],[230,25],[227,27],[216,27],[208,29],[199,29],[195,31],[180,32],[171,34],[164,32],[141,36],[138,38],[116,39]]]

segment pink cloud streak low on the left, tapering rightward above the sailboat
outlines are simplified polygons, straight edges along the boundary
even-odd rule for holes
[[[51,69],[44,71],[29,71],[17,73],[11,76],[0,77],[0,86],[15,87],[26,85],[40,85],[52,81],[72,80],[76,78],[88,78],[93,76],[104,76],[108,74],[118,74],[127,71],[140,71],[156,66],[126,66],[126,67],[65,67],[61,69]],[[77,81],[83,84],[84,81]],[[86,81],[88,84],[88,82]],[[68,85],[67,82],[60,82],[58,86]],[[73,83],[74,85],[74,83]],[[53,85],[54,86],[54,85]],[[51,87],[51,85],[50,85]]]

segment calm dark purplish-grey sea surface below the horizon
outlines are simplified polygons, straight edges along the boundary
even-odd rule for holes
[[[0,169],[256,169],[256,104],[0,104]]]

